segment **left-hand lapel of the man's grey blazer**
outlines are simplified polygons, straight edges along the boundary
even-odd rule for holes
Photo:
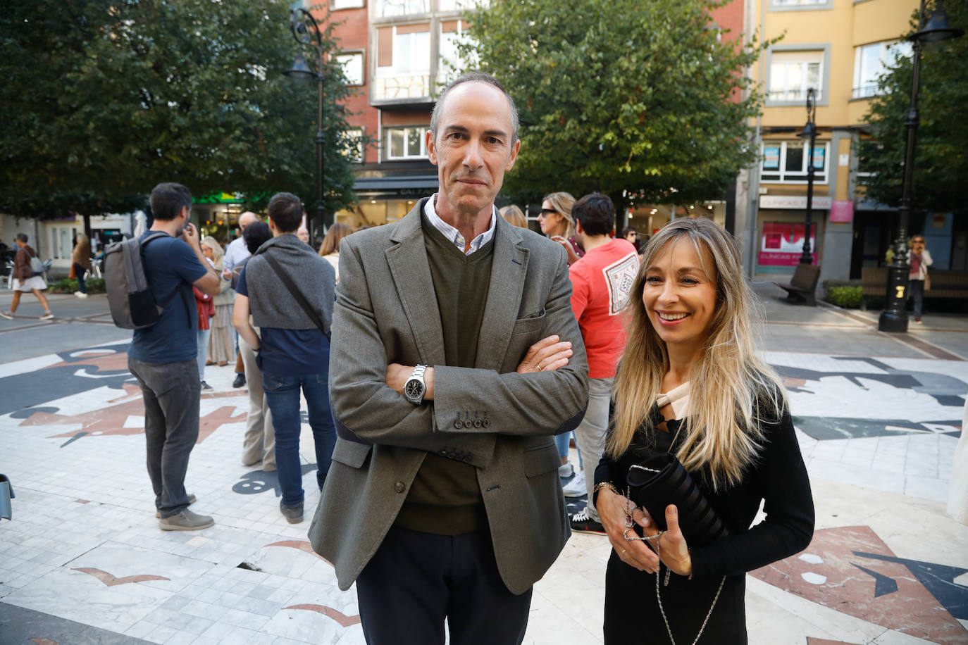
[[[400,220],[392,238],[397,244],[386,249],[386,261],[413,331],[420,360],[427,365],[444,365],[443,328],[420,225],[426,201],[418,201],[407,217]]]

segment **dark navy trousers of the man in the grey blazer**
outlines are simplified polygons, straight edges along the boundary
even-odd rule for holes
[[[452,645],[520,644],[531,590],[500,579],[486,531],[439,536],[391,527],[356,578],[369,645],[437,645],[447,619]]]

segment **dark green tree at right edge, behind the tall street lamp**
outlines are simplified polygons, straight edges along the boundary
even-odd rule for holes
[[[953,26],[968,28],[968,3],[946,3]],[[930,9],[925,15],[930,15]],[[917,14],[905,37],[917,31]],[[870,138],[860,144],[867,198],[899,206],[904,175],[905,121],[911,102],[913,58],[900,57],[880,78],[881,94],[870,103]],[[968,37],[924,48],[918,95],[921,125],[915,148],[912,208],[968,212]]]

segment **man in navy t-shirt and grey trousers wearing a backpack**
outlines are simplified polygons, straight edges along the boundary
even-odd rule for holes
[[[141,258],[155,302],[167,305],[158,323],[135,330],[128,350],[128,369],[144,397],[148,476],[163,531],[197,531],[215,523],[189,511],[195,498],[185,492],[188,457],[198,439],[201,395],[192,285],[214,296],[220,281],[201,253],[195,225],[188,223],[191,212],[192,193],[181,184],[159,184],[151,191],[155,220],[144,236],[163,231],[170,237],[142,246]]]

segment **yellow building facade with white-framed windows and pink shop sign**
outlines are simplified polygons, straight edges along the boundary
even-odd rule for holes
[[[807,90],[816,92],[817,138],[811,250],[822,279],[860,277],[878,261],[896,213],[863,200],[856,142],[877,77],[894,56],[910,56],[903,41],[918,0],[754,0],[747,33],[782,37],[749,71],[766,93],[756,122],[762,159],[749,173],[744,246],[751,274],[792,274],[802,253],[809,145]],[[876,229],[876,230],[875,230]]]

